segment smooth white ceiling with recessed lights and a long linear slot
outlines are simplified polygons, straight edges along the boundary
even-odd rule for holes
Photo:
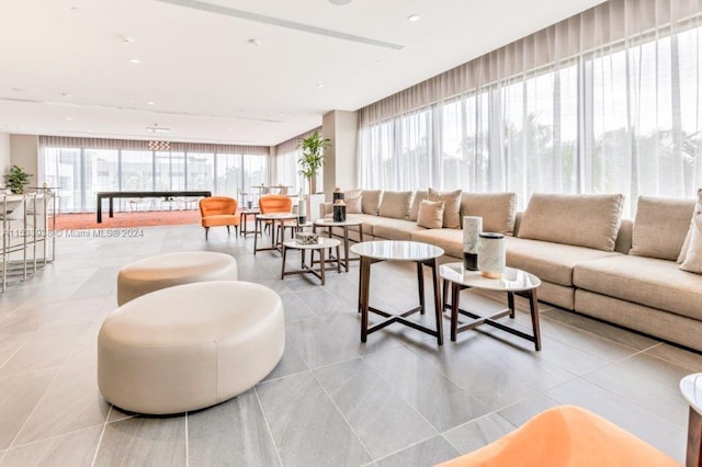
[[[600,2],[0,0],[0,132],[275,145]]]

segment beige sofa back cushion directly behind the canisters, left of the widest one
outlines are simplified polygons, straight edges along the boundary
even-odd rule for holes
[[[483,231],[510,234],[514,230],[517,194],[463,193],[461,219],[463,216],[483,217]]]

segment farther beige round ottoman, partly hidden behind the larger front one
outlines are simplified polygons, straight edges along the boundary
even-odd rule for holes
[[[225,253],[184,251],[159,254],[127,264],[117,275],[117,305],[174,285],[236,281],[237,260]]]

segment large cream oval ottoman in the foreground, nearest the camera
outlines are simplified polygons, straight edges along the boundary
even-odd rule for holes
[[[283,303],[249,282],[163,288],[110,314],[98,335],[98,385],[121,409],[180,413],[263,379],[285,346]]]

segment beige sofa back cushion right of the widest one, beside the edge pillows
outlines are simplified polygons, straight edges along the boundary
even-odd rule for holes
[[[629,254],[676,261],[693,210],[693,201],[639,196]]]

